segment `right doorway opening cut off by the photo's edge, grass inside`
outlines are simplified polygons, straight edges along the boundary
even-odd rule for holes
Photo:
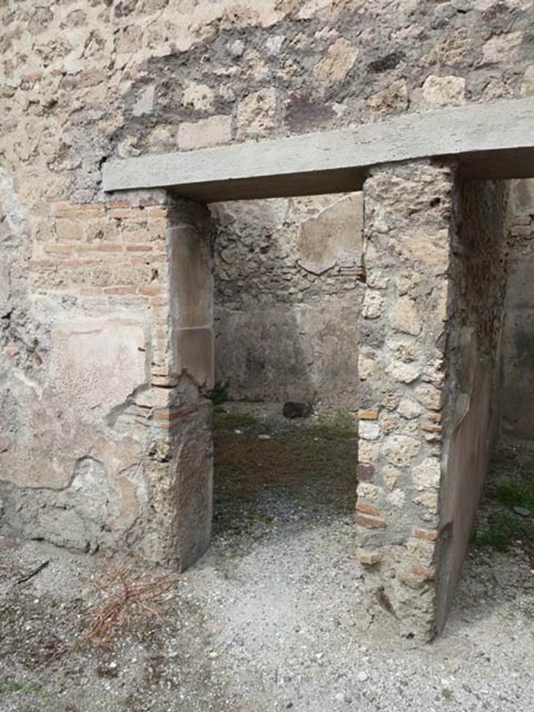
[[[499,427],[478,520],[479,551],[534,568],[534,179],[511,181]]]

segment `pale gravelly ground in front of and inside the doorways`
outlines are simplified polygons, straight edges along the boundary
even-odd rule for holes
[[[473,546],[434,644],[402,646],[387,618],[377,636],[362,621],[350,426],[229,410],[215,418],[211,549],[107,647],[83,635],[112,562],[0,539],[1,712],[534,710],[523,538]]]

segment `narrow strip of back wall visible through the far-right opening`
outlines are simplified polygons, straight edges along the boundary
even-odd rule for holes
[[[513,181],[499,389],[501,439],[534,441],[534,181]]]

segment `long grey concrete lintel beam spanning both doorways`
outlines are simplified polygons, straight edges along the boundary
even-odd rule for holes
[[[534,177],[534,99],[413,113],[350,129],[104,164],[103,188],[168,188],[205,202],[360,190],[370,167],[454,158],[464,174]]]

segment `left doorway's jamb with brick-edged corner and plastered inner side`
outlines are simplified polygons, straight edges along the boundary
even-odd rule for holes
[[[167,204],[166,258],[154,314],[150,532],[165,562],[187,568],[209,546],[213,499],[213,283],[209,211]]]

